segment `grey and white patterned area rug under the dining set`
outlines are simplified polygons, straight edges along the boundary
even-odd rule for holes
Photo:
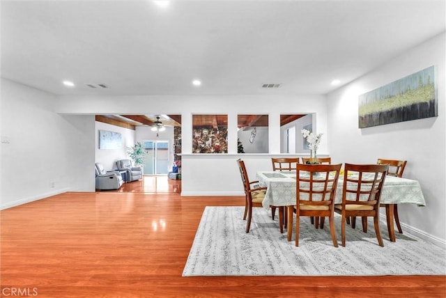
[[[281,234],[277,218],[254,208],[249,233],[245,233],[244,207],[206,207],[187,258],[183,276],[351,276],[444,275],[446,251],[413,235],[397,233],[388,240],[380,223],[384,247],[378,246],[374,226],[362,232],[346,227],[346,247],[341,246],[341,222],[335,226],[335,248],[326,221],[316,229],[308,217],[300,220],[299,246]],[[276,216],[277,217],[277,216]]]

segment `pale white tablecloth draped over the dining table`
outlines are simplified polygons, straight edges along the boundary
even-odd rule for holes
[[[266,186],[263,207],[269,209],[270,205],[289,206],[295,205],[295,172],[293,171],[259,171],[256,175],[261,186]],[[339,176],[335,203],[342,201],[342,188],[344,179]],[[420,182],[406,178],[387,176],[385,178],[380,203],[400,204],[413,203],[425,206],[424,196],[420,187]]]

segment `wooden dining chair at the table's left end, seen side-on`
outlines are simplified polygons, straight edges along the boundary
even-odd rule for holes
[[[243,214],[243,220],[247,219],[246,233],[249,233],[249,227],[251,226],[252,219],[252,207],[263,207],[263,198],[265,198],[266,187],[260,187],[259,181],[249,181],[246,171],[245,162],[242,159],[237,159],[238,169],[240,170],[240,176],[243,182],[243,188],[245,190],[245,213]],[[270,206],[274,210],[275,206]],[[273,211],[272,211],[273,212]],[[279,228],[280,233],[284,232],[284,212],[279,211]]]

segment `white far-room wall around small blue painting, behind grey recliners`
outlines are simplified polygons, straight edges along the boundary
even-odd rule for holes
[[[119,132],[121,134],[123,146],[119,149],[99,149],[99,130]],[[134,145],[134,136],[134,130],[95,121],[95,162],[100,162],[105,170],[112,171],[116,168],[116,161],[118,159],[129,158],[127,155],[127,148]]]

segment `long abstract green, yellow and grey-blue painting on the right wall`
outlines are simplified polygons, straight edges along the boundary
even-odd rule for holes
[[[359,128],[438,116],[434,66],[359,96]]]

